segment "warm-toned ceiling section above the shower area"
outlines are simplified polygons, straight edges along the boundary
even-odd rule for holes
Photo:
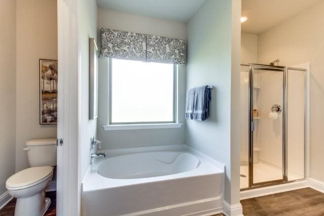
[[[242,31],[261,33],[323,0],[242,0]]]

